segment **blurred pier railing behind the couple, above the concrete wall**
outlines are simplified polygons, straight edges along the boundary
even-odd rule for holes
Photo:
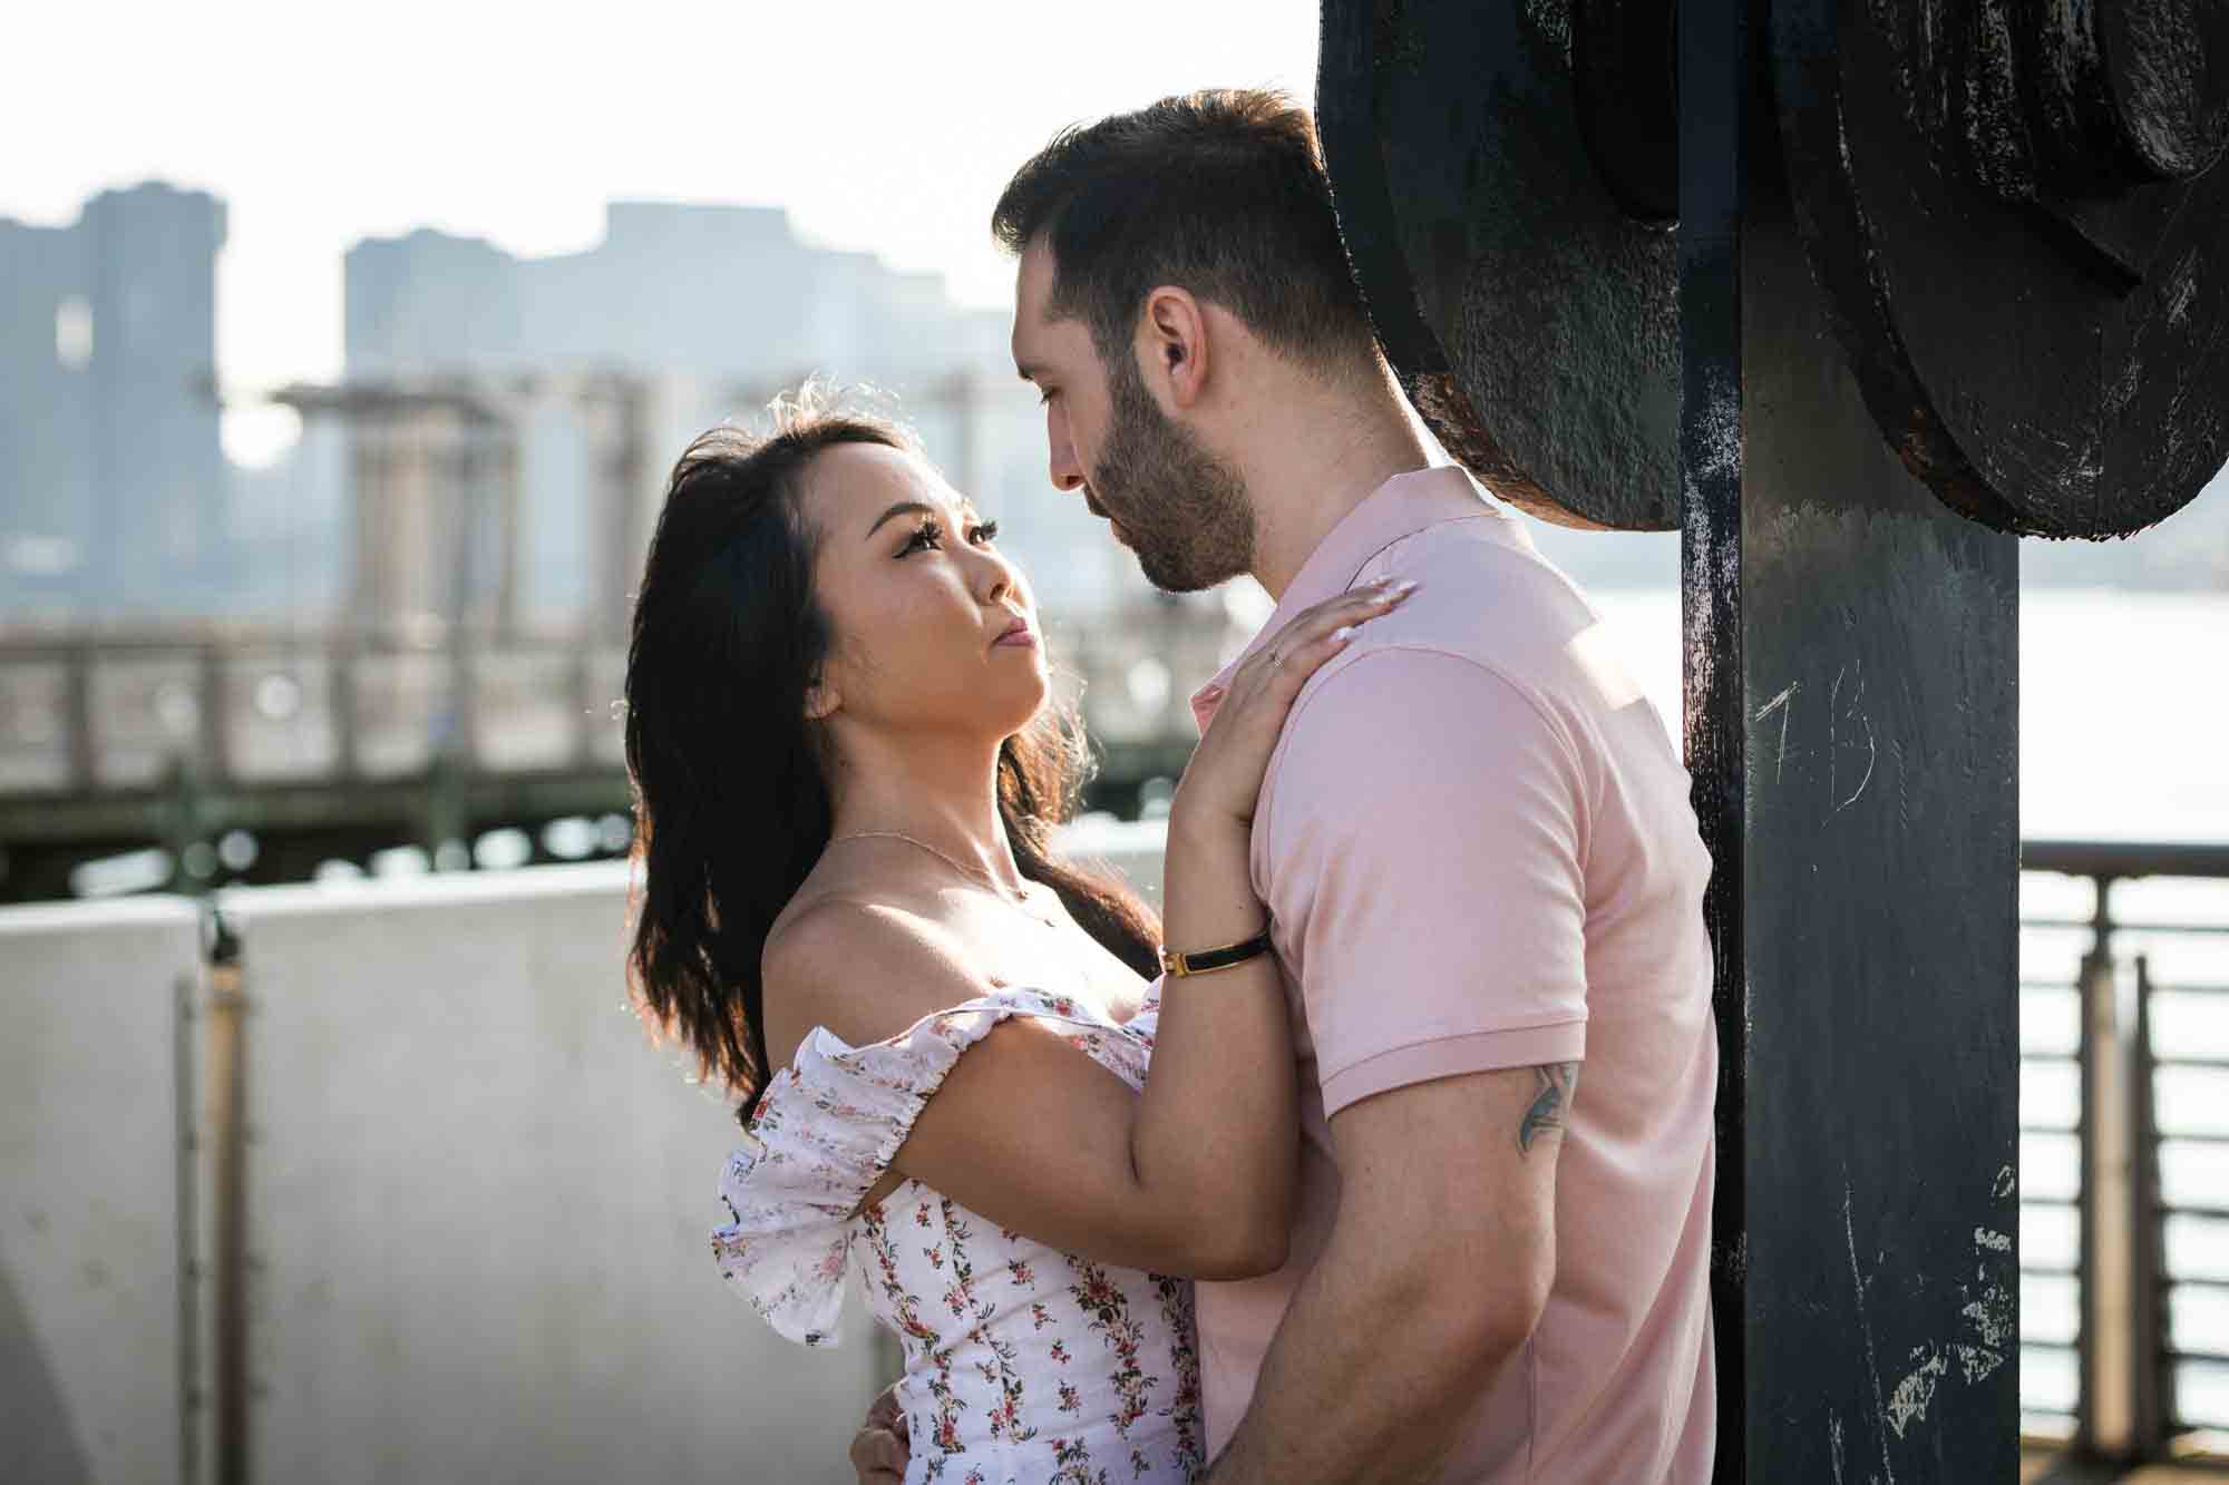
[[[1094,805],[1132,814],[1190,751],[1175,678],[1213,673],[1246,627],[1150,600],[1050,629],[1101,751]],[[105,858],[207,892],[386,847],[475,861],[486,832],[551,821],[624,850],[624,638],[580,629],[0,627],[0,903],[69,896]],[[218,870],[225,836],[252,872]]]

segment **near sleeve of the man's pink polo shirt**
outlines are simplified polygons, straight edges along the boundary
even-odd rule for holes
[[[1534,698],[1442,651],[1355,656],[1302,696],[1262,805],[1326,1117],[1585,1057],[1583,769]]]

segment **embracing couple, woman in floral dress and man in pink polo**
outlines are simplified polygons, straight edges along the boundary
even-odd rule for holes
[[[1302,109],[1072,129],[994,232],[1054,486],[1277,611],[1193,698],[1155,921],[1054,852],[1081,738],[967,493],[816,406],[691,446],[629,653],[631,972],[744,1101],[720,1269],[805,1345],[858,1269],[905,1351],[860,1478],[1707,1478],[1710,861],[1663,718],[1431,464]]]

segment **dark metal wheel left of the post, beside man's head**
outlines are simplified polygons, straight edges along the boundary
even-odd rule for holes
[[[1324,0],[1317,127],[1447,444],[1571,526],[1678,524],[1670,4]]]

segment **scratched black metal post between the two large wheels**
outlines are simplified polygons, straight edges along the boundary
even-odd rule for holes
[[[1763,25],[1681,13],[1687,745],[1727,1064],[1719,1478],[2013,1478],[2015,544],[1897,462],[1839,355]]]

